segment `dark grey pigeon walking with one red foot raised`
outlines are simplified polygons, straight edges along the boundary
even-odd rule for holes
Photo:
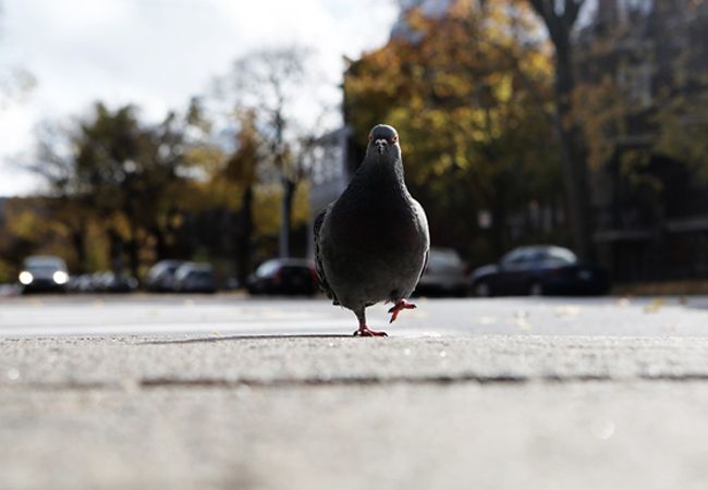
[[[369,133],[364,162],[346,189],[314,223],[315,268],[334,305],[358,319],[354,335],[386,336],[366,324],[366,308],[391,302],[390,322],[403,309],[428,260],[430,233],[423,206],[405,186],[398,132]]]

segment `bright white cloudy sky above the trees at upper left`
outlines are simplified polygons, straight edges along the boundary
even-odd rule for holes
[[[183,110],[251,50],[296,44],[337,103],[342,57],[383,45],[393,0],[0,0],[0,82],[26,70],[37,85],[0,106],[0,196],[38,181],[17,161],[42,121],[69,121],[96,100],[135,103],[146,121]]]

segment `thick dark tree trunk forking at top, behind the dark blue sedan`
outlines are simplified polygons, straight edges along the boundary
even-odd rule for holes
[[[585,0],[528,0],[542,19],[554,47],[556,118],[561,147],[561,164],[575,252],[584,258],[591,254],[587,191],[587,166],[581,133],[573,117],[575,89],[571,34]]]

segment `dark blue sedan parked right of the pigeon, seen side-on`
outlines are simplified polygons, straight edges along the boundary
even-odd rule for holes
[[[606,272],[578,261],[567,248],[534,245],[514,248],[499,264],[472,274],[476,296],[497,295],[596,295],[609,290]]]

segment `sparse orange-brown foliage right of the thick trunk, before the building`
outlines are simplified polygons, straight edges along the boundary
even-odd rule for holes
[[[621,187],[602,224],[660,230],[708,203],[707,24],[696,3],[625,8],[582,33],[574,111],[590,170]]]

